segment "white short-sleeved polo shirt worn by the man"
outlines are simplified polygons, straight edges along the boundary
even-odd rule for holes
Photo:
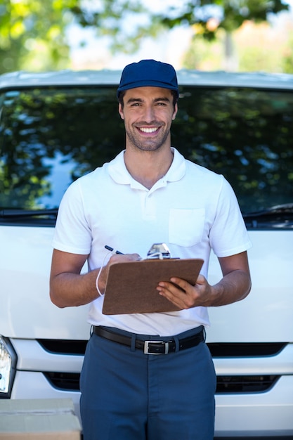
[[[205,277],[211,249],[217,257],[249,249],[242,214],[226,179],[172,150],[169,171],[150,190],[129,174],[124,151],[72,183],[60,204],[53,247],[89,254],[91,271],[103,264],[105,245],[145,257],[153,243],[165,242],[173,257],[204,259]],[[205,307],[107,316],[102,307],[103,297],[91,303],[90,323],[145,335],[176,335],[209,325]]]

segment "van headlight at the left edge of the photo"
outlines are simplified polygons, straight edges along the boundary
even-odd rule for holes
[[[17,356],[9,339],[0,335],[0,399],[9,399]]]

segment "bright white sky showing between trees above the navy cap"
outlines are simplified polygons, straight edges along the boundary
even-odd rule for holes
[[[293,20],[293,0],[287,0],[291,5]],[[176,0],[148,0],[148,8],[159,11],[167,4],[178,4]],[[284,14],[284,13],[283,13]],[[279,14],[281,15],[281,14]],[[137,53],[132,55],[115,54],[108,51],[107,40],[95,37],[93,30],[80,30],[73,26],[68,33],[71,47],[71,59],[73,69],[117,69],[122,70],[128,63],[141,59],[152,58],[171,63],[176,69],[182,67],[183,54],[187,51],[192,37],[192,31],[188,27],[177,27],[174,30],[166,31],[156,40],[145,39]],[[81,41],[86,41],[85,47],[80,47]]]

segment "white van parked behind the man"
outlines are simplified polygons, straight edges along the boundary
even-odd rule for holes
[[[49,299],[60,199],[124,148],[120,72],[0,77],[0,399],[72,398],[87,306]],[[210,309],[216,438],[293,438],[293,75],[178,72],[172,143],[232,184],[249,235],[252,292]],[[211,258],[209,282],[221,277]]]

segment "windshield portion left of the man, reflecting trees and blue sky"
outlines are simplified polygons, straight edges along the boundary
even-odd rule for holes
[[[113,89],[6,93],[0,124],[0,206],[58,207],[72,181],[115,156],[121,138],[116,109]]]

